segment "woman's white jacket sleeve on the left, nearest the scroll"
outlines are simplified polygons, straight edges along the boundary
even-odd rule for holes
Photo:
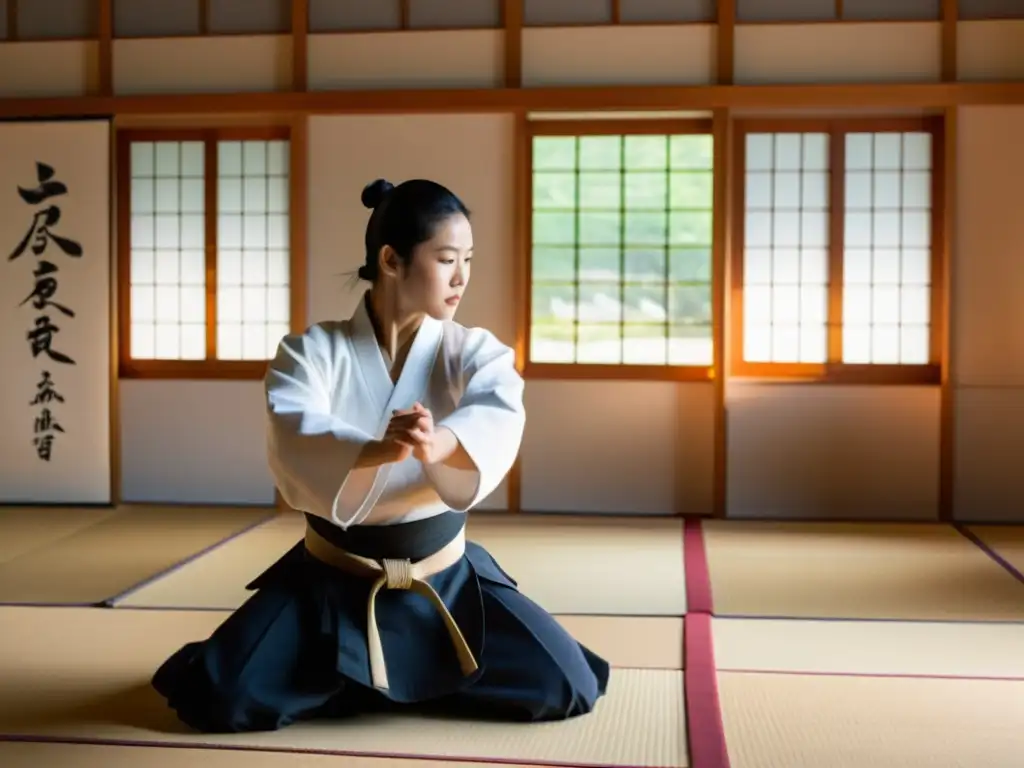
[[[278,346],[264,380],[267,457],[289,506],[347,527],[369,514],[386,476],[355,468],[374,437],[332,413],[334,343],[314,326]]]

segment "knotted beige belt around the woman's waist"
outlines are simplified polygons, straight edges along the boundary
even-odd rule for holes
[[[425,581],[459,562],[459,559],[466,552],[465,528],[460,530],[455,539],[437,552],[415,563],[408,559],[377,561],[353,555],[351,552],[339,549],[308,525],[306,526],[305,546],[310,555],[328,565],[353,575],[374,580],[367,605],[367,648],[370,653],[370,676],[375,688],[381,690],[388,688],[384,646],[381,643],[380,629],[377,626],[377,594],[382,589],[409,590],[430,600],[444,621],[444,626],[452,638],[452,644],[455,646],[456,655],[459,657],[462,674],[472,675],[476,672],[476,659],[473,657],[473,651],[470,650],[459,625],[452,617],[452,613],[444,605],[440,595]]]

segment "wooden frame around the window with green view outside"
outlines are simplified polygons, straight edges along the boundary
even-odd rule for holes
[[[523,264],[525,269],[526,290],[524,292],[525,327],[523,334],[523,365],[522,375],[535,380],[592,380],[592,381],[709,381],[714,378],[714,361],[707,366],[665,365],[633,365],[603,362],[535,362],[530,359],[530,336],[534,325],[532,293],[534,293],[534,138],[537,136],[640,136],[640,135],[707,135],[716,140],[712,130],[711,119],[648,119],[648,120],[527,120],[525,141],[523,141],[523,159],[525,168],[523,176],[524,200],[522,201],[524,215],[521,217],[523,237]],[[712,153],[717,160],[718,154]],[[713,169],[713,183],[718,182],[718,175]],[[717,227],[715,220],[722,215],[714,203],[712,208],[712,237],[714,240]],[[715,244],[712,248],[714,261]],[[718,270],[712,265],[711,293],[715,296],[715,281]],[[712,312],[711,338],[717,333],[719,323],[718,312]]]

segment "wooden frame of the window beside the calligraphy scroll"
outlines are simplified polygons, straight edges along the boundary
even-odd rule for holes
[[[117,133],[117,301],[118,375],[122,379],[258,380],[266,374],[268,359],[217,359],[217,202],[219,141],[289,141],[288,229],[290,328],[304,311],[302,287],[296,279],[304,273],[301,249],[295,232],[303,219],[298,213],[295,137],[288,126],[238,128],[125,129]],[[134,359],[131,356],[131,145],[139,141],[203,141],[205,152],[205,253],[206,253],[206,358]],[[213,151],[211,151],[211,147]],[[301,174],[300,174],[301,175]]]

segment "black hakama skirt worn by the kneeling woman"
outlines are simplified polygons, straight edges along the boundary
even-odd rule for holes
[[[452,541],[465,515],[348,530],[307,516],[355,555],[422,559]],[[410,707],[516,721],[589,713],[605,692],[607,663],[522,595],[479,545],[426,580],[476,658],[464,676],[443,620],[421,595],[377,596],[388,688],[371,682],[367,605],[371,581],[313,558],[303,542],[249,585],[252,597],[212,636],[158,670],[154,687],[178,717],[205,732],[273,730],[298,720]]]

